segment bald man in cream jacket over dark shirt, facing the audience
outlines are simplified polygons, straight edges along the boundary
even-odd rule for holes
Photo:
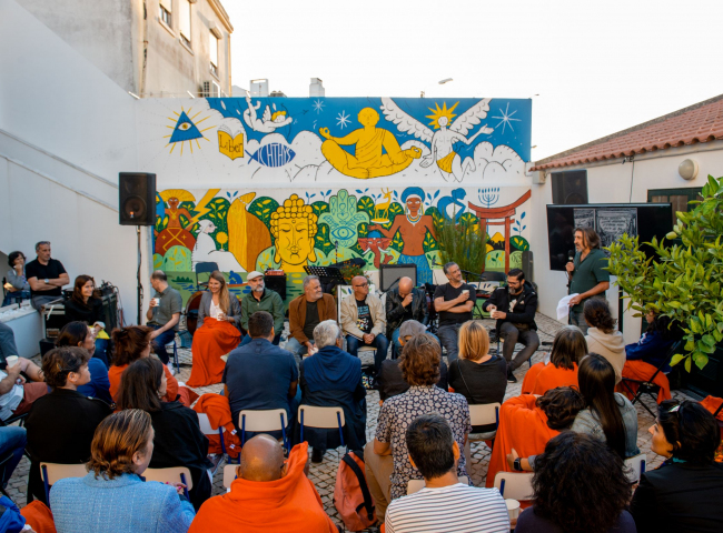
[[[350,355],[359,356],[359,346],[373,346],[374,369],[379,373],[382,361],[387,359],[389,341],[384,335],[387,319],[379,296],[369,294],[369,280],[357,275],[351,280],[349,294],[341,300],[339,323],[346,336],[346,348]]]

